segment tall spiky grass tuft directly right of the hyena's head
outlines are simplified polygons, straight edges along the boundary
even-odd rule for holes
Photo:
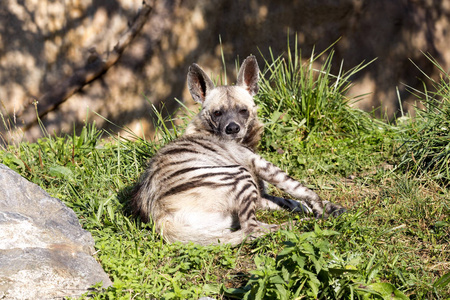
[[[341,62],[338,74],[334,75],[331,73],[334,51],[330,49],[331,46],[322,53],[313,52],[305,62],[297,46],[293,51],[288,48],[286,57],[275,57],[270,51],[270,58],[264,58],[257,101],[266,134],[294,130],[301,131],[304,137],[311,133],[345,135],[372,128],[370,116],[350,107],[351,99],[346,96],[350,78],[371,62],[349,71],[343,70]],[[321,59],[323,63],[319,63]]]

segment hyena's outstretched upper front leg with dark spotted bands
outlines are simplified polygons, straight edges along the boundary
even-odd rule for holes
[[[292,179],[277,166],[264,160],[256,154],[254,154],[251,158],[251,165],[259,178],[273,184],[277,188],[292,195],[294,198],[304,201],[306,205],[311,208],[316,218],[320,218],[322,216],[327,217],[329,214],[339,215],[345,211],[339,205],[329,202],[326,202],[327,207],[324,209],[324,203],[320,199],[319,195],[303,186],[298,181]],[[289,205],[289,201],[283,202],[283,204]]]

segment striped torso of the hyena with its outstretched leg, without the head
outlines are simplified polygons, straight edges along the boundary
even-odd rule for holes
[[[169,241],[239,244],[278,226],[256,220],[262,178],[322,214],[318,196],[248,148],[214,136],[163,147],[136,186],[134,212]]]

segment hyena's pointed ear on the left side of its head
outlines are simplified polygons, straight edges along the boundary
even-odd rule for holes
[[[195,102],[203,103],[206,94],[214,88],[214,83],[197,64],[192,64],[188,72],[188,88]]]

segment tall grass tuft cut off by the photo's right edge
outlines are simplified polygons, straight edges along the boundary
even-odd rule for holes
[[[425,56],[439,70],[438,80],[424,74],[431,83],[421,92],[411,92],[423,104],[416,107],[416,118],[407,128],[407,137],[401,147],[400,168],[416,176],[428,175],[432,179],[450,182],[450,74],[431,56]]]

